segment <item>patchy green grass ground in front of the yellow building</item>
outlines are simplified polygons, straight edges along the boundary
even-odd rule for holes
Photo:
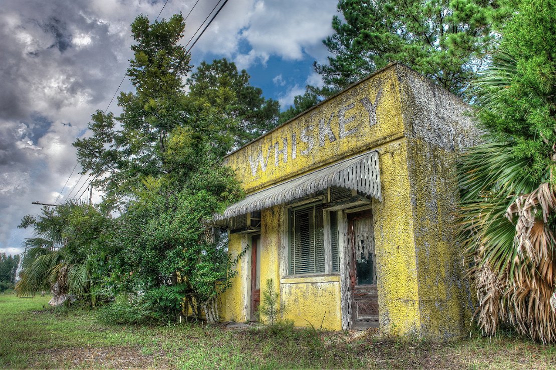
[[[500,335],[460,342],[310,330],[105,325],[96,312],[0,294],[2,368],[556,368],[556,347]]]

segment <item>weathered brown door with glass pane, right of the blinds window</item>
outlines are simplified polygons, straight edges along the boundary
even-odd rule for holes
[[[371,211],[349,214],[351,313],[354,329],[379,327],[376,254]]]

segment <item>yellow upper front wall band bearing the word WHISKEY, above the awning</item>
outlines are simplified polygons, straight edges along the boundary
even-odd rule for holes
[[[394,67],[279,126],[226,158],[249,193],[403,135]]]

